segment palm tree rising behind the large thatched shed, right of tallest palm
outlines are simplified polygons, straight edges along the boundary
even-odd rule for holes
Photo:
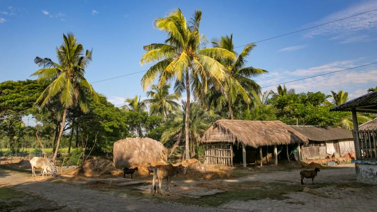
[[[230,36],[222,36],[219,41],[212,41],[214,48],[226,49],[229,52],[237,53],[234,51],[233,34]],[[252,66],[245,67],[250,52],[253,50],[255,44],[248,44],[243,48],[238,57],[231,59],[219,59],[219,62],[227,69],[230,76],[225,82],[225,88],[216,90],[211,93],[210,99],[216,98],[221,105],[227,104],[230,119],[234,119],[232,105],[236,101],[238,95],[241,95],[243,101],[251,103],[252,100],[258,100],[261,92],[260,86],[251,78],[267,73],[267,70],[254,68]],[[221,92],[224,91],[224,92]],[[211,100],[210,100],[211,101]]]

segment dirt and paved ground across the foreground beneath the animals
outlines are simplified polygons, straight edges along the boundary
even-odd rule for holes
[[[314,166],[314,165],[312,165]],[[318,165],[316,165],[318,166]],[[221,179],[172,181],[166,196],[150,193],[150,178],[31,177],[0,166],[0,211],[375,211],[377,187],[356,182],[353,164],[323,167],[300,184],[301,164],[240,167]],[[144,190],[143,190],[144,188]],[[163,185],[165,189],[165,184]],[[14,196],[13,194],[18,194]],[[199,198],[198,198],[199,197]],[[43,209],[42,209],[43,208]]]

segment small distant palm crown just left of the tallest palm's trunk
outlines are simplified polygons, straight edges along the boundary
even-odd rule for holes
[[[170,85],[163,85],[161,87],[152,85],[151,90],[147,92],[150,99],[145,102],[149,104],[151,114],[162,114],[166,117],[167,112],[170,112],[180,105],[174,100],[178,100],[180,95],[178,93],[169,94]]]

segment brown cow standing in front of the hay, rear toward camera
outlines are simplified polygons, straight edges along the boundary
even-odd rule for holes
[[[156,194],[156,177],[159,179],[159,189],[160,189],[160,193],[163,195],[161,191],[162,180],[164,178],[167,178],[166,188],[170,192],[169,184],[171,181],[171,177],[176,176],[181,173],[186,174],[186,169],[182,165],[174,167],[172,164],[167,164],[167,165],[158,165],[154,167],[153,182],[152,182],[152,189],[154,190],[153,195]]]

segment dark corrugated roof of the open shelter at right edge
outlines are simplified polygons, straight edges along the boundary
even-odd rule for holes
[[[331,111],[351,111],[356,108],[358,112],[377,113],[377,91],[367,93],[361,97],[345,102],[331,108]]]

